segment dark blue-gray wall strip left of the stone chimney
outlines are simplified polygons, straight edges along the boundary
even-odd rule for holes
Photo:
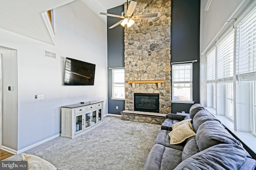
[[[109,14],[121,15],[124,5],[107,10]],[[120,18],[107,17],[108,27],[114,25]],[[124,67],[124,27],[118,25],[108,29],[108,68]],[[108,113],[120,114],[124,110],[124,100],[112,100],[112,70],[108,69]],[[116,109],[118,106],[118,109]]]

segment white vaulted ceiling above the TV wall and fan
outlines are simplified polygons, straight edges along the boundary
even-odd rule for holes
[[[0,29],[5,29],[38,41],[53,44],[48,29],[42,18],[42,13],[74,0],[1,0]],[[120,6],[126,0],[81,0],[102,20],[100,12]]]

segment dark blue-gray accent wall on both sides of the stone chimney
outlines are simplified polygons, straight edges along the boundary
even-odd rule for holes
[[[124,5],[109,9],[110,14],[120,15]],[[199,33],[200,0],[172,0],[171,62],[198,60],[193,64],[193,100],[199,103]],[[108,17],[108,27],[120,21]],[[124,27],[118,25],[108,29],[108,68],[124,66]],[[120,114],[124,100],[112,100],[112,72],[108,70],[108,113]],[[118,106],[118,109],[116,109]],[[172,113],[188,113],[192,104],[172,103]]]

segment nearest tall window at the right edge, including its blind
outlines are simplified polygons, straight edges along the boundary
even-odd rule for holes
[[[250,131],[256,135],[256,8],[236,28],[236,78],[239,84],[250,82]]]

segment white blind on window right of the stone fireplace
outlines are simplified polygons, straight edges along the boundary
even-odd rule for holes
[[[192,82],[192,63],[173,64],[172,65],[172,82]]]

